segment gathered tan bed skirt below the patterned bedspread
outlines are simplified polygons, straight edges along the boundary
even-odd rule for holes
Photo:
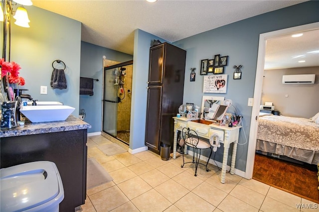
[[[309,164],[319,163],[319,151],[300,149],[257,139],[256,150],[284,155]]]

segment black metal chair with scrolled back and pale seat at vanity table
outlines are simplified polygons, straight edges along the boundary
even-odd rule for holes
[[[201,164],[206,167],[206,172],[208,172],[209,169],[207,168],[207,165],[208,165],[209,158],[212,154],[210,143],[199,139],[197,132],[186,127],[182,129],[181,136],[182,138],[179,141],[179,145],[182,147],[183,150],[184,148],[187,148],[187,146],[192,147],[193,160],[191,162],[185,162],[184,154],[187,154],[187,150],[185,152],[179,151],[180,153],[182,153],[182,156],[183,156],[183,164],[180,167],[183,168],[186,163],[195,163],[195,176],[197,176],[197,167],[198,167],[198,164]],[[199,158],[200,158],[202,149],[210,149],[210,155],[206,164],[199,163]],[[195,153],[196,153],[196,157],[195,157]]]

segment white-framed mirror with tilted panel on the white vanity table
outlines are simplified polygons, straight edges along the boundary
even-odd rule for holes
[[[223,105],[224,100],[225,97],[203,96],[200,119],[221,120],[228,108],[228,106]]]

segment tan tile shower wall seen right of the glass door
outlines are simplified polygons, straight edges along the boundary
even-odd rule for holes
[[[130,130],[133,65],[125,66],[125,68],[125,98],[118,104],[117,131]]]

